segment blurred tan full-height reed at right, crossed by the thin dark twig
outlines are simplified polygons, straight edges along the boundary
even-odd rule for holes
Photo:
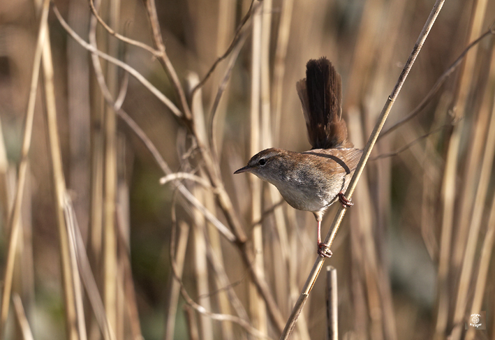
[[[475,37],[480,34],[480,21],[484,17],[487,1],[478,1],[473,10],[471,17],[471,28],[468,36],[468,41],[474,40]],[[466,59],[464,59],[464,65],[461,69],[461,75],[457,84],[457,97],[452,107],[455,108],[455,121],[464,117],[466,110],[466,101],[473,82],[473,70],[476,60],[477,47],[473,47],[471,53],[468,53]],[[436,330],[435,339],[443,339],[445,336],[445,330],[448,323],[448,311],[450,310],[450,294],[448,289],[448,281],[450,280],[450,261],[451,261],[451,242],[452,242],[452,228],[454,226],[454,214],[455,214],[455,195],[457,187],[457,163],[459,158],[459,146],[461,142],[461,133],[464,127],[464,119],[461,119],[458,124],[453,128],[452,135],[450,135],[450,142],[448,145],[447,159],[445,161],[445,172],[443,175],[442,183],[442,200],[443,200],[443,216],[442,216],[442,231],[440,242],[440,255],[438,261],[438,276],[437,276],[437,316],[436,316]],[[465,226],[459,226],[459,235],[463,235],[462,231]],[[465,234],[464,234],[465,235]],[[457,244],[459,246],[459,244]],[[457,248],[456,252],[463,253],[461,248]],[[454,254],[454,256],[456,256]]]

